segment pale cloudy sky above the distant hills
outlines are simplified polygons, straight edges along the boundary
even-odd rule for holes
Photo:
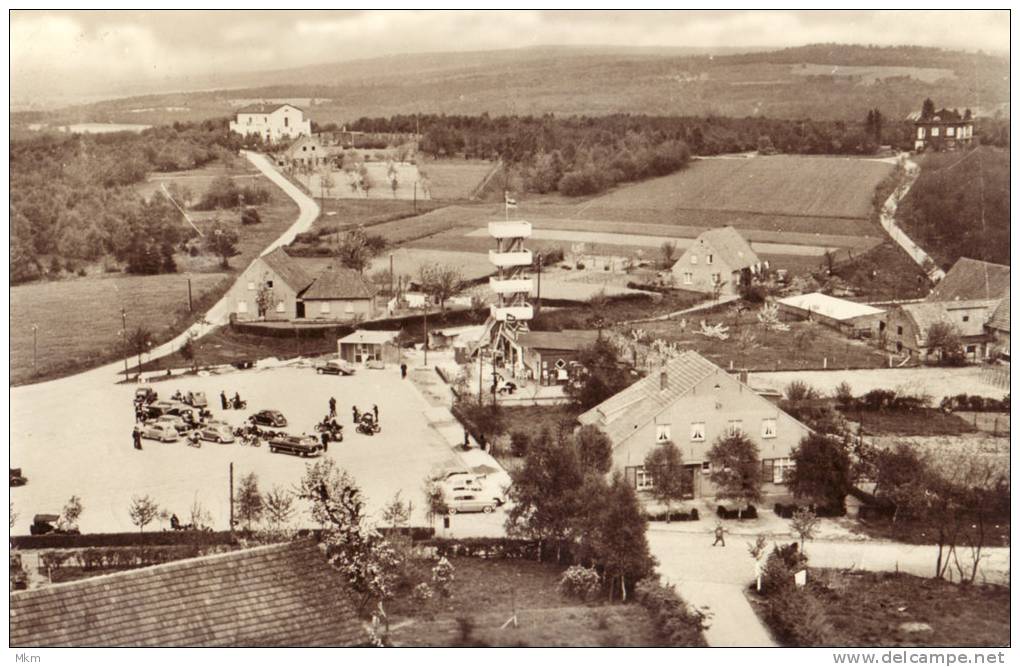
[[[817,42],[1008,53],[998,11],[28,11],[10,13],[11,102],[396,53],[537,45],[784,47]]]

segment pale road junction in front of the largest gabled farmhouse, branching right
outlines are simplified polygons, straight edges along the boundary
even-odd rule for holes
[[[651,528],[648,540],[652,554],[659,560],[659,573],[675,583],[690,604],[707,608],[711,617],[705,637],[710,646],[774,646],[744,596],[754,579],[754,562],[747,550],[749,536],[728,535],[728,546],[722,548],[712,547],[713,538],[708,533]],[[879,541],[815,541],[808,543],[805,552],[812,567],[931,576],[936,548]],[[961,550],[961,559],[965,560],[965,556]],[[1009,576],[1009,549],[984,550],[978,579],[1008,585]]]

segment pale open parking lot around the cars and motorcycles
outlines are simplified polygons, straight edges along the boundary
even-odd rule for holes
[[[414,503],[411,522],[425,525],[425,476],[459,464],[456,450],[428,425],[423,415],[428,406],[421,395],[393,367],[359,369],[350,377],[316,375],[310,367],[254,369],[151,386],[160,399],[177,389],[203,391],[213,416],[235,425],[257,410],[279,410],[290,422],[286,430],[295,434],[313,433],[315,423],[328,411],[329,397],[335,397],[344,442],[332,443],[325,456],[354,476],[375,519],[401,491],[405,502]],[[18,514],[13,533],[28,533],[37,513],[59,513],[71,495],[80,496],[85,506],[80,522],[83,532],[137,529],[129,518],[136,495],[151,496],[183,521],[189,520],[191,507],[198,501],[211,513],[213,527],[225,529],[232,462],[235,484],[242,475],[255,472],[265,492],[274,484],[292,488],[310,461],[270,454],[265,445],[255,449],[237,443],[204,442],[196,449],[184,440],[165,444],[146,440],[144,450],[136,451],[132,444],[135,389],[135,384],[111,386],[80,375],[11,391],[11,466],[22,468],[29,478],[26,486],[11,490]],[[220,391],[227,396],[239,392],[248,401],[247,409],[221,410]],[[363,411],[378,405],[380,433],[354,432],[351,406],[355,403]],[[491,532],[502,524],[502,512],[476,516],[477,521],[475,515],[457,517],[456,527]],[[472,527],[476,522],[479,525]],[[295,523],[310,524],[303,505]],[[153,523],[146,530],[164,527]]]

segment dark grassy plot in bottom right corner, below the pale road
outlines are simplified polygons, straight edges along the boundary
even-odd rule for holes
[[[809,549],[810,552],[810,549]],[[1001,647],[1010,644],[1010,589],[904,573],[815,570],[808,591],[831,625],[826,646]],[[904,623],[930,629],[909,632]]]

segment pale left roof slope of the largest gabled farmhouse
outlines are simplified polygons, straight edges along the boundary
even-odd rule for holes
[[[726,374],[694,350],[683,352],[666,364],[663,370],[666,373],[666,389],[660,387],[659,372],[650,373],[584,412],[577,417],[577,421],[601,427],[616,446],[706,377],[715,373]]]

